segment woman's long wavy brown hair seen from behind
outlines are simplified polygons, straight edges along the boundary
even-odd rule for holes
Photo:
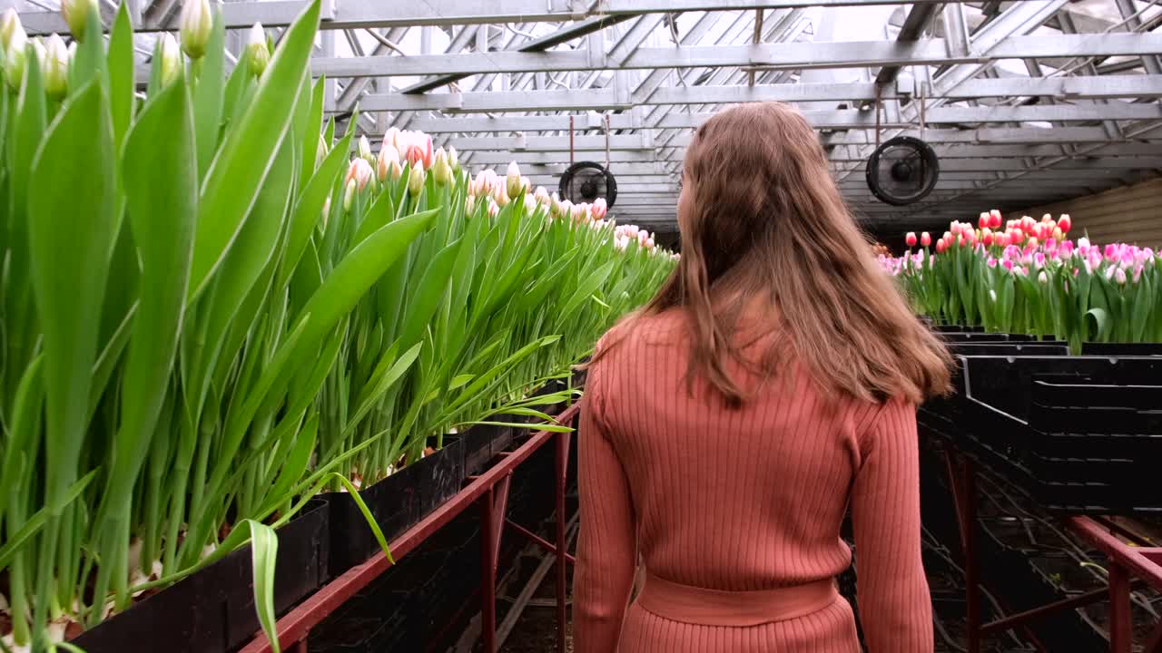
[[[734,331],[758,299],[775,342],[824,390],[916,403],[948,392],[952,357],[876,266],[802,114],[768,102],[713,116],[686,151],[684,179],[681,260],[630,322],[681,307],[691,379],[730,406],[746,399],[726,360],[740,359]],[[774,374],[783,353],[772,345],[761,371]]]

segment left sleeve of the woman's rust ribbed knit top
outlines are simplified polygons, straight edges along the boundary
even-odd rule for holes
[[[575,653],[617,650],[637,558],[629,481],[601,404],[600,379],[590,373],[576,433],[581,532],[573,579]]]

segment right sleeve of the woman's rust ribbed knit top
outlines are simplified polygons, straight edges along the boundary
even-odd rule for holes
[[[932,653],[932,598],[920,558],[916,407],[880,409],[860,443],[852,525],[868,653]]]

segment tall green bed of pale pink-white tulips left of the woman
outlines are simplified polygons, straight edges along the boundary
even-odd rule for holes
[[[271,629],[274,529],[429,436],[546,418],[572,393],[533,390],[673,267],[515,166],[336,138],[317,1],[229,72],[221,20],[187,2],[144,94],[124,6],[106,41],[95,2],[66,5],[76,51],[0,23],[3,648],[70,648],[66,626],[248,541]]]

